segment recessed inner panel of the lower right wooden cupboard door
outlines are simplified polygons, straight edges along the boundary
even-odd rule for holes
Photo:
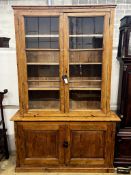
[[[97,144],[94,144],[96,140]],[[71,143],[72,158],[104,157],[105,132],[103,131],[72,131]]]

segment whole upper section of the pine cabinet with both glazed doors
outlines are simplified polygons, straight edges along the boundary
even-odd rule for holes
[[[14,7],[22,114],[110,111],[114,9],[102,7]]]

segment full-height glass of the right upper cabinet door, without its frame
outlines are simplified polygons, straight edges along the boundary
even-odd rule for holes
[[[101,16],[69,17],[70,110],[101,107],[103,26]]]

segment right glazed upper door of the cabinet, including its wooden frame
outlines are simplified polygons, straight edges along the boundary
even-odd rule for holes
[[[105,112],[108,15],[69,13],[65,21],[65,110]]]

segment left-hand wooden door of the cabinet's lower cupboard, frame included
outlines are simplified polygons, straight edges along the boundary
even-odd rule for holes
[[[41,122],[17,124],[18,161],[21,166],[61,165],[64,163],[64,127]]]

